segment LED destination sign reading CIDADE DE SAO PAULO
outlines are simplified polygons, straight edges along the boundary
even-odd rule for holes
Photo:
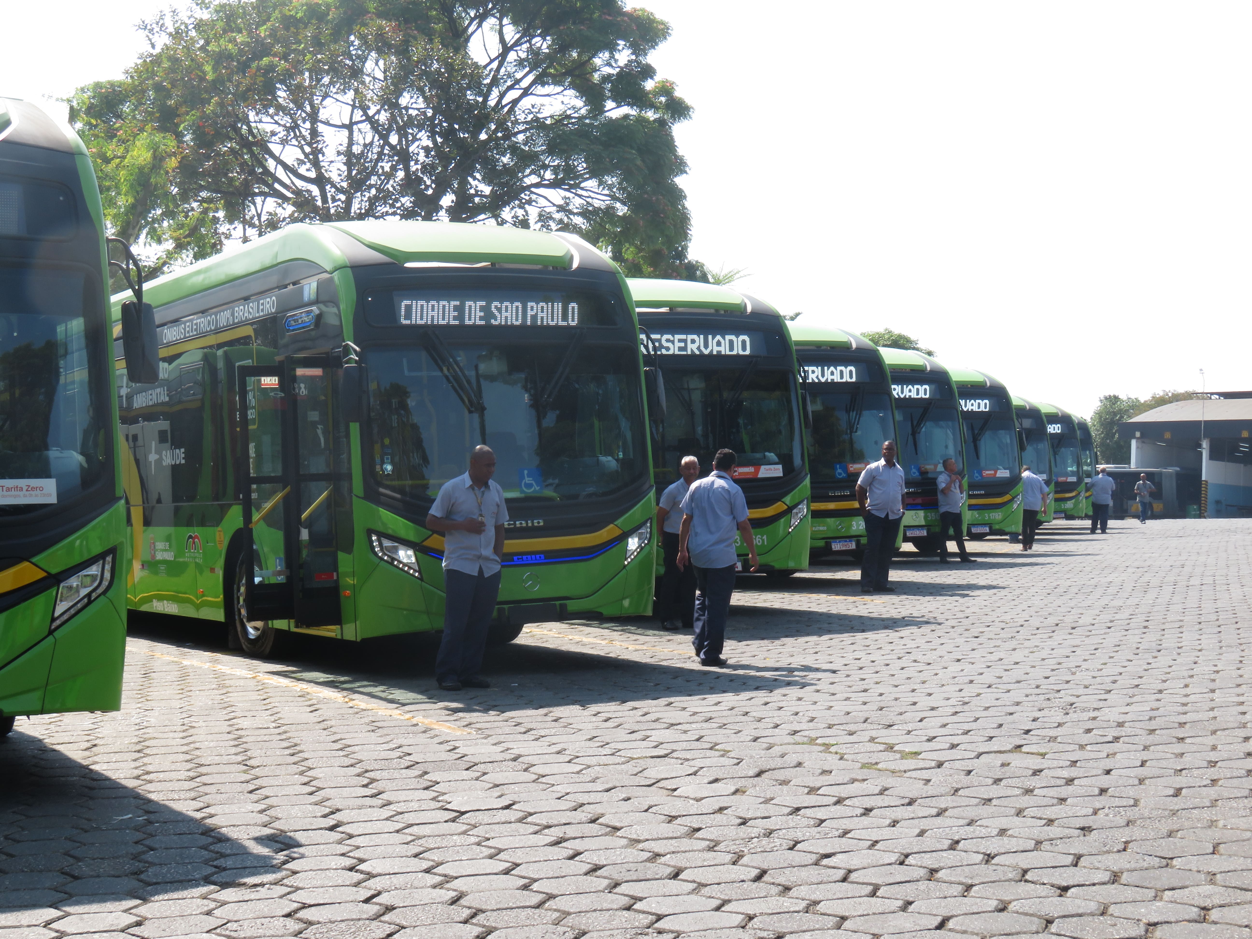
[[[371,299],[377,302],[374,297]],[[606,316],[603,305],[592,294],[586,293],[490,289],[394,290],[392,305],[394,318],[388,326],[403,327],[577,328],[611,326],[613,322],[611,314]]]

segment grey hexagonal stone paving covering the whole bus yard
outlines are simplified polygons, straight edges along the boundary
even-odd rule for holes
[[[1252,939],[1249,546],[744,578],[729,669],[546,623],[458,694],[428,639],[146,622],[124,711],[0,745],[0,939]]]

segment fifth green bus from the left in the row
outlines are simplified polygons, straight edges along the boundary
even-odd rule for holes
[[[943,461],[967,467],[960,399],[948,369],[929,356],[883,348],[895,398],[900,466],[904,467],[904,541],[918,551],[939,548],[939,487]],[[963,505],[962,530],[969,505]]]

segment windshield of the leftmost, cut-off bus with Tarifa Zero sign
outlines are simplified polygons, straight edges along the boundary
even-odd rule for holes
[[[103,358],[89,352],[81,273],[0,267],[0,517],[64,503],[113,478]],[[98,346],[96,346],[98,348]]]

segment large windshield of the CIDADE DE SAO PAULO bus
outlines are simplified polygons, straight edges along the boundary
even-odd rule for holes
[[[371,349],[368,368],[367,472],[392,495],[429,502],[482,443],[511,503],[612,496],[647,477],[632,343],[392,346]]]

